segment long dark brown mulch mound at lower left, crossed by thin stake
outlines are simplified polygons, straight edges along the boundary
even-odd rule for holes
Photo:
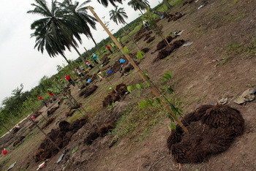
[[[61,121],[59,123],[58,129],[52,129],[48,136],[53,142],[55,142],[59,148],[64,148],[69,144],[71,137],[75,132],[83,127],[87,123],[87,118],[82,118],[73,123],[68,123],[67,121]],[[50,142],[47,138],[39,145],[38,150],[34,153],[34,160],[44,161],[45,159],[50,159],[59,152],[58,148]]]

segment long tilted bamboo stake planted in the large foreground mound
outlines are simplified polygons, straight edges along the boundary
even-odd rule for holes
[[[121,47],[121,45],[119,44],[119,42],[117,41],[116,37],[113,36],[113,34],[110,33],[110,31],[108,30],[108,28],[104,25],[104,23],[102,23],[102,20],[100,20],[99,16],[96,14],[96,12],[94,12],[94,9],[92,9],[91,6],[88,7],[89,10],[91,11],[91,13],[94,15],[94,17],[98,20],[98,22],[100,23],[100,25],[105,29],[105,31],[108,33],[108,35],[110,36],[110,38],[113,40],[113,42],[116,43],[116,46],[119,48],[119,50],[123,50],[123,47]],[[142,70],[139,68],[139,66],[137,64],[135,64],[134,61],[132,61],[132,58],[128,55],[128,54],[124,54],[124,56],[127,58],[127,60],[132,64],[133,67],[135,67],[135,69],[138,72],[138,75],[140,75],[140,77],[149,83],[150,85],[150,89],[152,91],[152,93],[157,96],[157,98],[160,99],[162,105],[165,107],[165,109],[168,111],[168,113],[170,113],[170,115],[173,117],[173,119],[178,123],[179,126],[181,126],[181,128],[184,130],[184,132],[188,133],[189,131],[187,130],[187,128],[184,126],[183,123],[181,123],[181,121],[178,119],[178,117],[172,113],[172,111],[170,110],[170,107],[167,106],[167,104],[164,102],[164,100],[162,99],[162,96],[160,96],[159,91],[157,91],[157,88],[155,88],[154,86],[152,86],[151,82],[148,81],[148,78],[145,77],[143,75]]]

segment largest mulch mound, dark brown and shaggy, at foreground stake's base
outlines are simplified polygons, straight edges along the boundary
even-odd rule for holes
[[[185,115],[181,122],[189,133],[176,125],[167,139],[167,147],[178,163],[207,161],[212,154],[227,150],[235,137],[244,132],[241,113],[221,104],[203,105]]]

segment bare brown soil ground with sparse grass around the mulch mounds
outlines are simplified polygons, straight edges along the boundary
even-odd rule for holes
[[[200,5],[204,7],[197,9]],[[155,36],[156,39],[148,44],[143,41],[144,38],[138,41],[140,48],[150,49],[146,58],[140,62],[140,67],[148,71],[148,75],[158,86],[165,86],[160,80],[166,70],[173,71],[173,89],[176,99],[183,104],[184,113],[195,110],[201,104],[214,104],[218,99],[227,97],[228,104],[240,110],[244,117],[244,134],[237,137],[227,151],[211,156],[208,161],[200,164],[182,164],[181,170],[256,170],[256,103],[233,103],[243,91],[250,87],[255,88],[256,85],[255,7],[254,0],[200,0],[184,6],[182,3],[178,4],[172,9],[172,13],[182,12],[185,15],[175,22],[160,20],[159,24],[164,26],[166,36],[170,32],[184,30],[178,39],[193,44],[179,47],[162,60],[154,61],[159,53],[154,51],[162,39]],[[151,34],[151,37],[153,36],[154,33]],[[129,42],[127,47],[135,49],[132,42]],[[135,50],[132,53],[135,53]],[[116,57],[116,61],[118,58]],[[110,63],[114,64],[115,61]],[[125,77],[120,76],[121,73],[116,72],[110,82],[115,86],[120,83],[132,85],[142,82],[136,72]],[[118,122],[121,115],[127,113],[127,109],[138,105],[140,99],[152,97],[150,93],[142,91],[138,94],[127,94],[121,98],[121,102],[116,102],[112,107],[102,107],[102,101],[111,90],[106,86],[108,83],[105,80],[94,84],[98,86],[97,90],[86,99],[79,96],[78,86],[71,87],[72,96],[83,104],[82,107],[93,125],[86,123],[73,134],[71,141],[64,148],[67,149],[67,158],[56,164],[61,156],[59,152],[46,161],[42,170],[178,170],[166,145],[170,135],[167,128],[170,120],[167,117],[157,118],[154,126],[148,129],[149,121],[138,115],[138,125],[131,131],[127,130],[126,136],[116,140],[116,134],[113,132],[102,134],[92,140],[91,145],[85,143],[91,132],[99,131],[97,126],[110,121]],[[50,107],[56,105],[53,103]],[[42,115],[48,117],[47,111],[50,107],[42,107]],[[48,133],[51,129],[56,129],[60,120],[72,122],[83,116],[76,111],[74,115],[66,118],[65,113],[68,111],[67,104],[61,104],[59,109],[50,115],[56,119],[46,126],[44,131]],[[143,117],[154,120],[157,110],[144,113],[146,115]],[[40,126],[45,123],[41,115],[36,120]],[[7,134],[0,139],[0,146],[6,147],[10,152],[6,156],[0,156],[0,170],[7,170],[15,161],[17,164],[13,170],[37,169],[40,163],[35,162],[33,155],[45,137],[31,124],[25,120],[17,133]],[[12,143],[21,136],[25,138],[13,147]],[[115,141],[117,142],[113,144]]]

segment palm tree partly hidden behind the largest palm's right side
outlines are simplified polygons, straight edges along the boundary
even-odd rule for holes
[[[94,28],[96,30],[96,18],[92,17],[87,13],[88,7],[85,7],[86,4],[88,4],[89,1],[84,1],[82,4],[79,5],[78,1],[75,1],[75,3],[72,3],[72,0],[64,0],[61,3],[61,7],[63,8],[66,16],[69,18],[69,20],[76,20],[76,23],[78,23],[79,26],[82,26],[83,34],[86,35],[86,37],[91,38],[95,45],[97,45],[97,42],[95,42],[94,37],[91,34],[91,28]]]

